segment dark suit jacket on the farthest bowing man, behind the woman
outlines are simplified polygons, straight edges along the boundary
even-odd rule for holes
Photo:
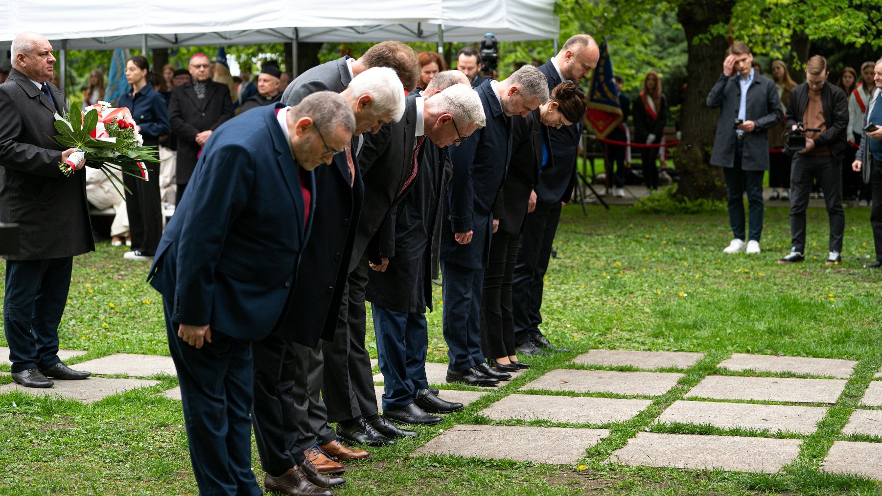
[[[550,60],[540,65],[539,71],[545,74],[545,79],[548,79],[549,91],[563,82]],[[549,129],[549,147],[555,167],[546,169],[539,177],[539,184],[536,185],[537,201],[557,203],[570,200],[572,188],[576,184],[576,159],[579,155],[581,136],[581,122],[562,126],[560,129]]]

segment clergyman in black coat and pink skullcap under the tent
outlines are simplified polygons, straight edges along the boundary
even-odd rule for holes
[[[215,129],[233,116],[227,86],[209,80],[211,61],[205,54],[190,59],[192,82],[176,86],[168,101],[168,120],[177,140],[175,204],[179,205],[196,161]],[[177,76],[175,76],[177,78]]]

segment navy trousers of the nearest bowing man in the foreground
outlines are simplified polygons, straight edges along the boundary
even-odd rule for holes
[[[251,471],[251,343],[213,331],[212,342],[196,349],[177,336],[171,302],[162,304],[199,494],[263,494]]]

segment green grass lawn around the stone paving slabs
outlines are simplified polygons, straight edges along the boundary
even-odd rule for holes
[[[784,267],[775,260],[789,250],[785,207],[766,208],[763,253],[752,257],[721,252],[731,238],[722,210],[661,215],[639,214],[631,207],[589,207],[583,215],[578,206],[566,207],[542,313],[549,339],[572,352],[527,359],[534,367],[511,384],[447,416],[441,425],[422,427],[415,439],[373,450],[370,461],[347,471],[348,485],[335,493],[877,494],[879,486],[871,481],[817,470],[834,440],[855,439],[843,436],[841,429],[882,365],[882,271],[861,267],[873,253],[870,211],[846,214],[841,266],[824,266],[826,212],[812,208],[807,260]],[[161,300],[144,282],[146,270],[146,264],[124,261],[123,250],[108,242],[75,260],[61,345],[88,354],[69,363],[118,352],[168,355]],[[429,360],[444,362],[441,312],[430,314],[429,323]],[[368,334],[372,339],[372,332]],[[376,355],[376,345],[369,346]],[[609,438],[573,466],[410,456],[441,429],[491,423],[480,410],[594,348],[705,351],[706,357],[668,394],[651,398],[653,404],[639,416],[607,426]],[[848,358],[859,364],[838,404],[809,436],[651,426],[662,410],[733,352]],[[8,365],[2,370],[8,372]],[[88,405],[0,395],[0,466],[5,469],[0,471],[0,493],[195,494],[181,404],[156,394],[176,386],[176,379],[154,379],[161,379],[161,386]],[[0,375],[0,384],[10,381]],[[804,443],[796,461],[776,475],[602,464],[644,430],[765,435]],[[256,449],[253,456],[262,483]]]

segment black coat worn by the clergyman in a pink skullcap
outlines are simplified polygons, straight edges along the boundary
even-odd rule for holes
[[[199,100],[193,83],[185,83],[171,91],[168,101],[168,121],[177,141],[176,184],[187,184],[196,168],[199,147],[196,135],[217,130],[218,126],[233,117],[233,102],[229,99],[226,85],[206,81],[206,97]]]

